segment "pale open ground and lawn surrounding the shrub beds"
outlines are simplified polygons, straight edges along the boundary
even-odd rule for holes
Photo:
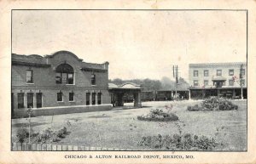
[[[172,105],[172,111],[179,117],[183,133],[214,137],[222,143],[216,150],[247,149],[247,101],[236,100],[238,110],[188,111],[188,105],[201,101],[144,102],[140,109],[114,109],[79,114],[38,116],[32,118],[32,128],[41,131],[46,127],[59,129],[67,127],[70,132],[58,144],[74,144],[93,147],[107,147],[130,150],[148,150],[137,145],[143,136],[178,133],[175,122],[144,122],[137,116],[145,115],[152,109],[164,109]],[[131,104],[127,104],[128,106]],[[12,120],[12,134],[27,123],[26,118]],[[70,122],[70,123],[67,123]]]

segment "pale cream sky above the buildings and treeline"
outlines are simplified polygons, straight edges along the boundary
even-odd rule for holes
[[[246,11],[13,10],[12,53],[67,50],[109,79],[189,78],[190,63],[246,61]]]

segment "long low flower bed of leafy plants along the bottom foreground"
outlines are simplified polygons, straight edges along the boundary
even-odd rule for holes
[[[157,150],[212,150],[218,145],[215,139],[206,136],[173,134],[173,136],[147,136],[139,141],[138,145]]]

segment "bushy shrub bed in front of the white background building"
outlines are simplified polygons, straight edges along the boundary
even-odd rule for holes
[[[234,105],[230,100],[211,98],[205,99],[201,105],[188,106],[189,111],[199,110],[237,110],[238,106]]]

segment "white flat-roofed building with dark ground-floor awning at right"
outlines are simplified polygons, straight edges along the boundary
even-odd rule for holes
[[[247,99],[247,63],[190,64],[189,85],[191,99]]]

